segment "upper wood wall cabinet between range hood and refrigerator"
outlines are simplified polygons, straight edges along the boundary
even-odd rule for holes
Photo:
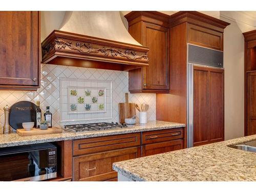
[[[148,67],[129,71],[131,93],[168,93],[169,16],[156,11],[132,11],[125,15],[129,33],[148,51]]]

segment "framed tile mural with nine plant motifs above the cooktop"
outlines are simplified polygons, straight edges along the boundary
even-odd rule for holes
[[[60,122],[112,119],[112,81],[59,78],[59,82]]]

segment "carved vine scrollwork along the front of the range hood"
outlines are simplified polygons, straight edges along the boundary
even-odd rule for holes
[[[109,55],[111,55],[112,57],[121,56],[121,57],[126,57],[127,59],[132,59],[132,60],[145,59],[145,61],[148,61],[147,53],[143,55],[138,55],[136,51],[133,51],[133,50],[120,50],[120,49],[109,48],[109,47],[102,47],[102,48],[95,49],[88,42],[79,42],[79,41],[77,41],[74,46],[71,41],[65,41],[59,38],[56,38],[55,42],[59,50],[66,49],[66,47],[68,47],[69,49],[79,51],[80,53],[86,53],[86,54],[103,53],[105,56],[109,56]]]

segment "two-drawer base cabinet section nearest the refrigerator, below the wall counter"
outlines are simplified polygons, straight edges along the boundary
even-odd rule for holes
[[[142,132],[142,156],[183,149],[183,134],[183,128]]]

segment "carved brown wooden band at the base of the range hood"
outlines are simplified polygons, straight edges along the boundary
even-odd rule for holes
[[[147,47],[54,30],[42,43],[42,63],[127,71],[148,66]]]

